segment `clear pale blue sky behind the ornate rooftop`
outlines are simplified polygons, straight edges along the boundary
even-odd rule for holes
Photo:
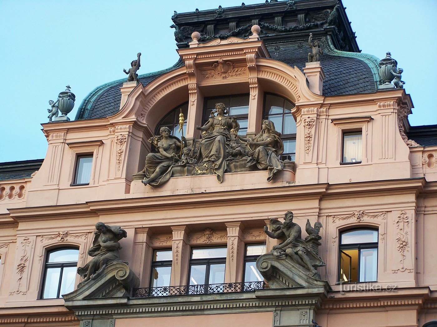
[[[0,162],[45,157],[41,123],[48,101],[71,85],[76,104],[96,86],[125,78],[123,68],[141,52],[139,74],[173,65],[178,55],[171,16],[238,6],[209,1],[0,0]],[[246,4],[262,0],[244,0]],[[437,1],[343,0],[357,42],[383,58],[391,51],[404,69],[415,109],[411,125],[437,123],[435,82]]]

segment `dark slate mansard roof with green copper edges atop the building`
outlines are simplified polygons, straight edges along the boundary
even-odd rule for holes
[[[324,0],[320,5],[320,1],[304,0],[291,5],[288,1],[279,1],[223,8],[222,14],[217,9],[174,14],[175,39],[178,48],[186,48],[193,31],[199,31],[201,41],[206,42],[216,37],[247,37],[250,27],[259,24],[260,37],[267,45],[271,58],[302,70],[309,52],[308,35],[312,32],[325,52],[321,58],[326,76],[323,95],[375,92],[379,60],[360,53],[343,5],[336,3],[336,0]],[[298,14],[297,10],[304,10],[305,14]],[[139,80],[145,86],[182,65],[178,61],[160,72],[139,75]],[[90,92],[80,105],[76,119],[102,118],[118,112],[123,82],[125,78]]]

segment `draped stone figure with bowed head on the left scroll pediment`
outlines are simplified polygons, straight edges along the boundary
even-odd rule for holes
[[[77,268],[77,273],[83,281],[77,287],[81,287],[88,280],[96,276],[109,263],[121,262],[120,243],[121,238],[127,237],[126,231],[120,226],[109,226],[103,222],[96,224],[93,246],[88,250],[88,255],[93,257],[85,266]]]

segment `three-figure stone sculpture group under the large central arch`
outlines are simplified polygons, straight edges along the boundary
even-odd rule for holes
[[[243,137],[238,135],[236,118],[227,113],[226,106],[217,103],[205,125],[196,126],[202,136],[191,147],[183,136],[180,140],[170,135],[168,127],[161,127],[160,135],[149,139],[156,153],[147,155],[144,169],[134,180],[158,186],[173,176],[215,174],[221,183],[225,172],[268,170],[267,181],[271,181],[284,164],[292,166],[280,159],[284,144],[272,121],[263,120],[260,133],[253,138]]]

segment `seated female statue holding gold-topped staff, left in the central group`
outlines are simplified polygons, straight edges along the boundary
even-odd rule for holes
[[[159,185],[170,178],[166,174],[170,167],[179,161],[180,147],[187,146],[187,140],[182,136],[182,143],[176,136],[170,135],[170,128],[163,126],[160,136],[153,136],[150,143],[156,146],[158,153],[149,153],[146,157],[146,166],[140,173],[146,173],[142,181],[144,185]]]

